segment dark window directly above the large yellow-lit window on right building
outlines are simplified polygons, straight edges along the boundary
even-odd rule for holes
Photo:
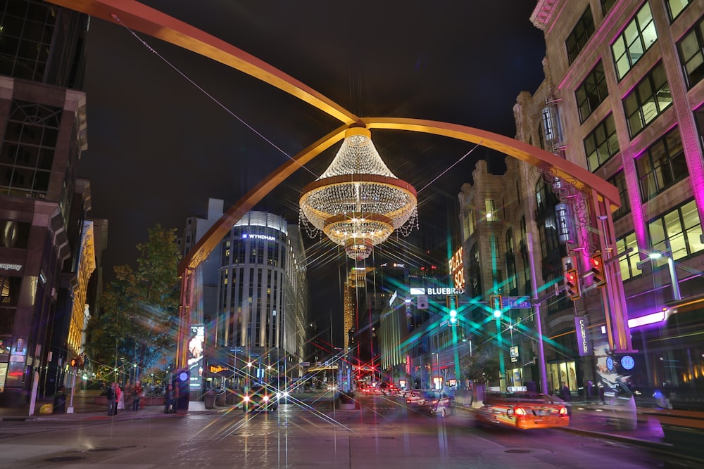
[[[662,139],[643,152],[636,160],[636,172],[643,202],[689,174],[677,128],[667,132]]]

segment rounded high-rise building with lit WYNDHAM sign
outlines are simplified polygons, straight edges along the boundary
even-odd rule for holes
[[[207,219],[187,220],[180,240],[184,252],[222,213],[222,200],[211,199]],[[196,356],[189,364],[202,368],[204,381],[191,370],[191,390],[298,375],[308,352],[306,255],[298,225],[248,212],[199,266],[197,278],[200,300],[191,323],[194,338],[203,328],[204,354],[200,364]]]

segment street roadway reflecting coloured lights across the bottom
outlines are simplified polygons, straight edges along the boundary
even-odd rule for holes
[[[159,406],[0,422],[0,468],[694,468],[696,463],[565,430],[474,428],[474,413],[409,411],[399,397],[332,409],[329,394],[272,413]],[[200,404],[200,406],[198,405]],[[192,409],[191,409],[192,408]]]

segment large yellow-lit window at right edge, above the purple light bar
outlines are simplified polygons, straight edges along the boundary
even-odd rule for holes
[[[704,249],[700,239],[702,234],[701,220],[694,200],[650,221],[648,233],[650,234],[650,249],[664,251],[669,243],[674,260]]]

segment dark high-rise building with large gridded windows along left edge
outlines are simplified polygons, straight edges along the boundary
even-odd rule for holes
[[[14,406],[27,401],[34,371],[40,394],[70,384],[67,363],[82,352],[84,305],[75,303],[89,295],[81,269],[94,266],[89,191],[76,183],[88,17],[8,1],[0,24],[0,394]]]

